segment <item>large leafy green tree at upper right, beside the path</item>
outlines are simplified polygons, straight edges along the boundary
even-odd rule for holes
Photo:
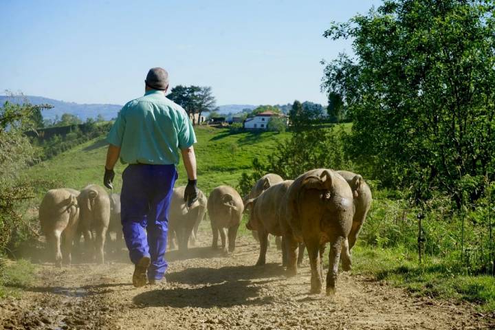
[[[322,87],[342,97],[350,150],[384,184],[418,198],[438,188],[461,206],[495,179],[493,12],[493,1],[386,0],[325,32],[354,40]]]

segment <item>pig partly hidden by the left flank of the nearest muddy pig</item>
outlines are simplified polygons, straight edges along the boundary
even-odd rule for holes
[[[250,208],[250,219],[246,223],[249,230],[258,232],[260,241],[260,255],[256,265],[265,265],[265,257],[268,246],[268,234],[282,236],[280,226],[280,208],[285,192],[293,180],[282,181],[265,190],[259,197],[250,199],[246,207]]]

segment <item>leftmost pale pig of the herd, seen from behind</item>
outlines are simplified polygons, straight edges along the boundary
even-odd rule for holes
[[[72,243],[79,221],[78,195],[77,190],[69,188],[48,190],[39,208],[41,231],[59,267],[62,263],[70,265],[72,260]]]

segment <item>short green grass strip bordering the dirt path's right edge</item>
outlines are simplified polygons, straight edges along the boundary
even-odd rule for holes
[[[417,254],[404,247],[353,248],[353,274],[373,276],[417,296],[465,300],[483,312],[495,311],[495,278],[471,276],[455,260],[426,257],[419,264]]]

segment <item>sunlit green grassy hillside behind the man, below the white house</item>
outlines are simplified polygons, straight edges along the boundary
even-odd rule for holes
[[[241,173],[249,171],[252,159],[264,159],[276,147],[276,142],[290,136],[290,133],[243,132],[230,134],[228,129],[199,126],[195,129],[197,144],[198,186],[207,195],[212,188],[221,184],[236,186]],[[80,144],[65,153],[57,155],[30,168],[26,175],[33,179],[53,181],[52,188],[69,187],[81,189],[88,184],[102,185],[103,166],[107,155],[104,137]],[[117,192],[122,187],[122,170],[115,166],[114,186]],[[186,184],[184,165],[177,166],[179,181]],[[43,194],[44,192],[39,192]]]

